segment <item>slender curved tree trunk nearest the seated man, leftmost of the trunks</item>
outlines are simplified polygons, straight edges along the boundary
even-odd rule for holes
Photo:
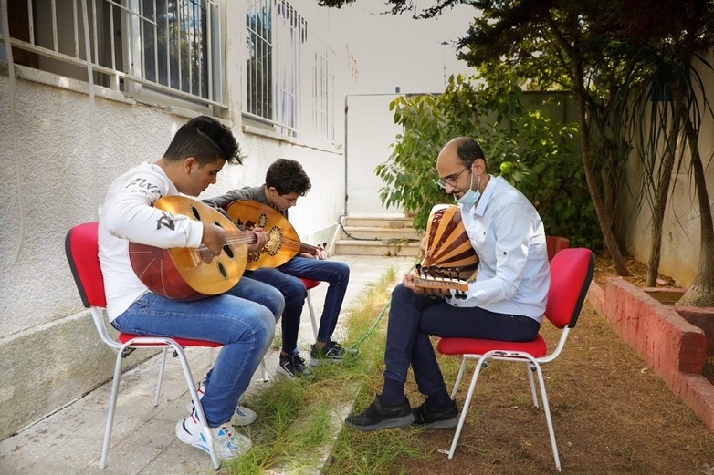
[[[600,224],[600,231],[603,232],[603,238],[610,256],[613,258],[614,270],[618,275],[629,275],[627,265],[623,254],[620,253],[620,246],[614,237],[613,232],[613,216],[607,212],[604,207],[603,198],[598,188],[597,174],[593,163],[593,150],[590,147],[590,124],[587,119],[587,97],[585,93],[583,81],[583,67],[578,65],[574,67],[574,79],[576,87],[576,95],[578,97],[578,111],[580,115],[580,144],[583,149],[583,166],[585,169],[585,181],[587,182],[590,197],[593,199],[597,222]]]

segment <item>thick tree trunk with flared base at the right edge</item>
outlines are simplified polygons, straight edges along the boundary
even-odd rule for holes
[[[704,165],[699,155],[698,134],[688,117],[685,119],[685,133],[692,156],[691,166],[694,170],[694,185],[699,201],[701,251],[694,282],[679,299],[677,305],[714,306],[714,223],[709,206]]]

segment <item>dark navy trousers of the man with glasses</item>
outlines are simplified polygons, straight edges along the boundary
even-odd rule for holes
[[[532,341],[541,324],[522,315],[503,315],[478,307],[454,307],[443,298],[415,294],[404,284],[392,291],[384,378],[404,384],[411,365],[419,392],[446,392],[430,335],[489,340]],[[443,393],[442,393],[443,394]]]

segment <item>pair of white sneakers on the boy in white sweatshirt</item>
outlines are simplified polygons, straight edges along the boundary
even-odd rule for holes
[[[208,428],[208,430],[211,431],[211,436],[213,437],[215,455],[220,460],[239,457],[250,449],[250,439],[242,434],[236,434],[229,425]],[[195,413],[178,421],[176,424],[176,437],[185,444],[193,445],[206,453],[211,453]]]

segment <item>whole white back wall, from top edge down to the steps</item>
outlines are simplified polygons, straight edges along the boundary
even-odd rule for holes
[[[331,44],[337,48],[337,115],[346,118],[343,132],[347,161],[348,213],[403,212],[379,199],[383,181],[374,169],[392,153],[401,128],[389,103],[401,94],[439,93],[454,74],[474,74],[456,58],[455,42],[467,33],[476,14],[457,5],[431,20],[411,15],[381,15],[381,0],[358,0],[329,10]]]

